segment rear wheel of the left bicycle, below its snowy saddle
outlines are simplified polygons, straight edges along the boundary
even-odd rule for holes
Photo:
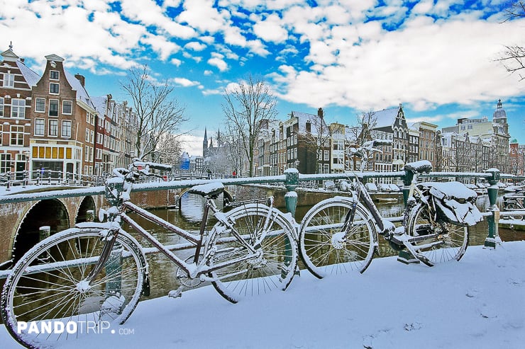
[[[294,227],[283,214],[266,205],[248,204],[228,212],[233,229],[218,223],[211,231],[209,265],[233,261],[250,253],[240,240],[255,248],[255,256],[212,271],[212,284],[221,296],[236,303],[246,297],[286,290],[297,266]],[[255,246],[262,234],[266,236]]]

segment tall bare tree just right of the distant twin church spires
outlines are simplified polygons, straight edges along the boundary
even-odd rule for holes
[[[251,75],[236,88],[226,89],[224,100],[222,108],[232,147],[243,151],[251,177],[259,132],[264,122],[275,119],[277,100],[264,80]]]

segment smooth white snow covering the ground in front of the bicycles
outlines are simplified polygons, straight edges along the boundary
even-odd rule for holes
[[[203,287],[141,302],[114,329],[60,348],[525,348],[525,242],[433,268],[376,258],[354,278],[302,270],[239,304]],[[3,326],[0,348],[18,348]]]

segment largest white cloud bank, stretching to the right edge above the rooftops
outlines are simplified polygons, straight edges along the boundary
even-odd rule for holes
[[[486,21],[429,23],[416,18],[394,32],[358,25],[360,45],[313,40],[308,57],[314,66],[301,71],[287,64],[275,79],[284,88],[282,98],[311,106],[333,103],[377,109],[402,102],[425,110],[514,96],[523,94],[525,86],[507,76],[494,57],[502,50],[502,38],[522,40],[522,30],[516,30],[520,25],[525,20],[506,27]],[[311,93],[311,86],[316,86],[316,93]]]

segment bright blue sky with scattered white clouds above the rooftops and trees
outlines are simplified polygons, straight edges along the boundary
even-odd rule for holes
[[[507,0],[0,0],[2,47],[41,71],[44,56],[86,76],[91,96],[126,96],[126,69],[148,64],[175,84],[190,119],[190,154],[223,118],[224,89],[264,76],[279,118],[292,110],[355,124],[402,103],[409,120],[444,127],[488,116],[499,98],[525,143],[525,81],[495,59],[525,46],[525,18],[502,23]]]

